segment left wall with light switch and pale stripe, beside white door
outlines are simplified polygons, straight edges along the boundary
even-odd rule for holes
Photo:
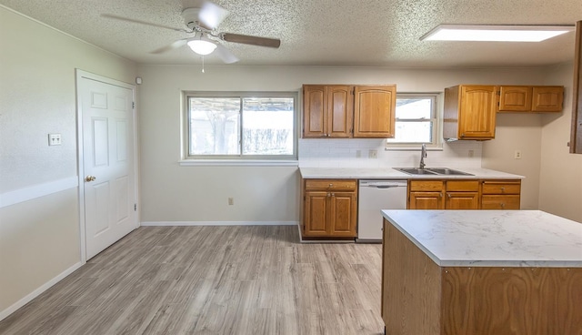
[[[75,68],[133,83],[135,64],[3,6],[0,41],[2,320],[81,261]]]

